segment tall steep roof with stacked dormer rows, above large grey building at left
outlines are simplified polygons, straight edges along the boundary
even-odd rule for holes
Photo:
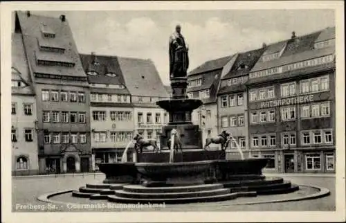
[[[49,31],[48,33],[54,33],[55,37],[44,37],[42,26],[45,26],[46,30]],[[86,77],[67,20],[62,21],[59,18],[38,16],[31,13],[29,16],[25,12],[17,11],[15,30],[20,30],[24,36],[24,47],[33,73]],[[51,48],[62,48],[64,53],[41,51],[40,44]],[[50,61],[72,62],[74,66],[38,66],[37,59],[39,58]]]

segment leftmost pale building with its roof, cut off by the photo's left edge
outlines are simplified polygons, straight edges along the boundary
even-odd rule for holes
[[[11,99],[12,175],[37,175],[36,99],[20,33],[12,34]]]

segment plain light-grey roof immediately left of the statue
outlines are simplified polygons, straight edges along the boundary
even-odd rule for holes
[[[131,95],[167,98],[168,93],[152,60],[117,58]]]

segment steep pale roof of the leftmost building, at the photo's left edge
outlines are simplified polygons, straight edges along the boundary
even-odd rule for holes
[[[23,46],[23,38],[20,33],[12,33],[12,80],[19,80],[27,84],[25,87],[12,87],[12,93],[34,94],[33,86],[30,84],[28,60]]]

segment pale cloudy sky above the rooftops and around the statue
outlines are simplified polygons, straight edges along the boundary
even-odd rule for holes
[[[189,71],[208,60],[335,26],[334,10],[32,11],[66,15],[80,53],[151,59],[169,84],[168,39],[176,24],[190,48]]]

